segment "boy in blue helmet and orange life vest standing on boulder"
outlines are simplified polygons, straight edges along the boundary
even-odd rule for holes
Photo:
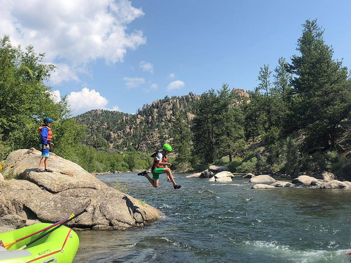
[[[36,172],[49,172],[52,173],[53,171],[47,168],[47,163],[49,159],[49,152],[50,152],[50,146],[54,146],[54,144],[51,142],[52,140],[52,131],[51,131],[51,123],[52,119],[50,118],[45,118],[44,119],[44,126],[39,127],[38,131],[40,133],[40,149],[41,149],[41,160],[38,166],[38,169]],[[50,145],[50,146],[49,146]],[[45,164],[45,170],[41,169],[41,166]]]

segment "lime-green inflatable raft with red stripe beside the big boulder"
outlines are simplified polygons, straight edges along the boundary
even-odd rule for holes
[[[4,243],[13,242],[50,225],[52,224],[38,223],[2,233],[0,234],[0,240]],[[25,249],[18,250],[51,229],[18,241],[11,248],[8,248],[8,250],[1,247],[0,263],[72,263],[75,253],[78,250],[79,238],[71,228],[64,225],[61,225]]]

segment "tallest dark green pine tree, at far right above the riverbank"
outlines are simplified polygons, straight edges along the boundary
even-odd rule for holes
[[[293,98],[292,122],[306,131],[310,147],[322,144],[336,148],[336,128],[350,115],[351,90],[347,68],[332,58],[333,49],[323,40],[324,31],[317,20],[306,20],[297,50],[292,57],[290,73]]]

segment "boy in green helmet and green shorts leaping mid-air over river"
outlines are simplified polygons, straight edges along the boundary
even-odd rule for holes
[[[145,176],[147,180],[149,180],[149,182],[152,184],[152,186],[154,188],[157,188],[160,174],[167,174],[167,181],[171,180],[174,189],[179,189],[181,187],[181,184],[176,184],[176,182],[174,182],[171,169],[167,167],[172,165],[172,163],[167,162],[167,154],[169,154],[171,151],[172,147],[166,143],[163,145],[162,151],[156,151],[151,155],[151,157],[154,159],[151,167],[152,179],[150,176],[148,176],[147,171],[143,171],[138,175]]]

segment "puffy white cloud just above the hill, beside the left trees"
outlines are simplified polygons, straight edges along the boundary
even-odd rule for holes
[[[102,97],[99,92],[88,88],[82,88],[80,92],[71,92],[67,96],[67,101],[74,114],[84,113],[91,109],[101,109],[108,103],[108,100]]]

